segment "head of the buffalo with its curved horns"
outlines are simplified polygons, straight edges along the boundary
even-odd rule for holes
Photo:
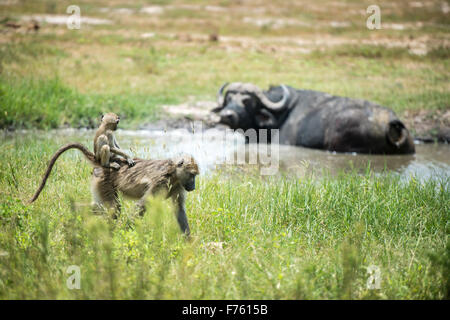
[[[287,107],[289,99],[289,89],[284,85],[280,87],[283,91],[281,99],[272,101],[254,84],[225,83],[217,92],[218,106],[212,111],[219,114],[220,123],[231,129],[276,128],[276,114]]]

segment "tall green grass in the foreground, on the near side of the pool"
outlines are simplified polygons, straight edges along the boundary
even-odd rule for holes
[[[188,194],[193,238],[170,205],[117,221],[89,209],[91,168],[64,155],[24,204],[59,145],[7,139],[0,155],[2,299],[443,299],[449,293],[449,177],[201,176]],[[269,195],[262,197],[261,195]],[[208,249],[224,242],[223,250]],[[81,270],[81,289],[66,270]],[[381,289],[366,287],[369,265]]]

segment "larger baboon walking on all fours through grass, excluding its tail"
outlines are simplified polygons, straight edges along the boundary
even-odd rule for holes
[[[94,205],[114,208],[118,212],[120,205],[117,193],[121,192],[128,198],[138,200],[139,211],[143,215],[147,198],[163,193],[173,200],[180,229],[189,235],[184,202],[186,191],[195,189],[195,177],[198,174],[197,163],[188,155],[174,160],[136,159],[134,167],[122,166],[118,171],[97,167],[92,175]]]

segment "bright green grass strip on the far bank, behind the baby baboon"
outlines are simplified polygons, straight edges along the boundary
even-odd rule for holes
[[[158,106],[174,103],[170,97],[82,94],[51,80],[0,78],[0,127],[49,129],[63,126],[98,126],[101,114],[115,112],[126,119],[124,127],[152,121]]]

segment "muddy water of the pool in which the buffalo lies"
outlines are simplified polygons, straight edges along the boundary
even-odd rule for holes
[[[58,130],[45,133],[44,139],[56,137],[61,144],[77,141],[91,148],[93,134],[94,132],[90,130]],[[189,133],[186,129],[118,130],[116,136],[123,149],[141,158],[160,159],[180,153],[192,154],[203,174],[225,167],[236,169],[240,174],[246,169],[256,168],[263,175],[287,174],[301,177],[312,173],[337,174],[350,170],[364,173],[370,166],[375,173],[381,174],[387,170],[405,179],[411,176],[420,180],[450,176],[448,144],[417,144],[414,155],[384,156],[337,154],[285,145],[246,145],[241,135],[227,134],[219,129],[209,129],[195,134]],[[265,172],[261,170],[264,168]]]

